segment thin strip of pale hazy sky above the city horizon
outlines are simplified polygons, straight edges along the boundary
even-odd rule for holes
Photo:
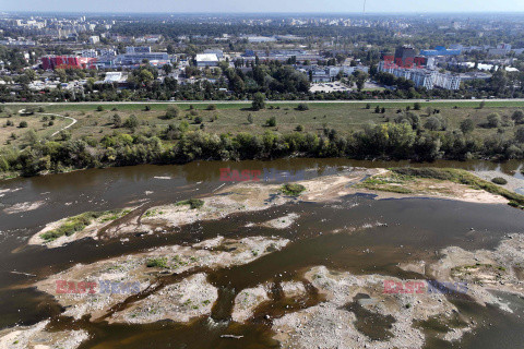
[[[365,0],[0,0],[0,11],[361,13]],[[524,12],[523,0],[366,0],[366,12]]]

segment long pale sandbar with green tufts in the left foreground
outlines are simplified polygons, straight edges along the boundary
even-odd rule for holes
[[[152,249],[147,252],[120,256],[88,265],[78,264],[70,269],[56,274],[35,286],[44,292],[55,296],[64,308],[64,316],[81,318],[90,315],[94,320],[107,318],[111,322],[134,322],[119,315],[127,312],[128,308],[136,308],[140,303],[170,302],[174,294],[166,292],[159,294],[170,285],[183,282],[186,278],[202,273],[210,273],[216,268],[240,265],[252,262],[272,251],[284,248],[289,240],[279,238],[243,238],[239,240],[213,239],[195,244],[195,246],[171,245]],[[207,249],[207,245],[214,246]],[[223,251],[223,250],[228,250]],[[100,286],[96,285],[94,293],[57,293],[57,281],[74,282],[138,282],[136,293],[122,292],[100,293]],[[162,296],[162,297],[157,297]],[[148,299],[148,300],[147,300]],[[206,302],[210,310],[213,302]],[[189,309],[191,311],[191,309]],[[169,314],[168,314],[169,315]],[[186,321],[183,313],[180,316],[169,315],[166,318]],[[139,317],[141,318],[141,317]],[[139,320],[136,318],[136,321]],[[144,322],[147,322],[144,320]]]

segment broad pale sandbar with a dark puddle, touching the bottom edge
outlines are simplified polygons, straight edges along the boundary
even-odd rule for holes
[[[274,338],[283,347],[421,348],[425,336],[415,322],[457,312],[441,293],[384,293],[384,280],[400,281],[396,278],[355,276],[325,267],[313,267],[305,276],[326,300],[273,322]],[[373,321],[373,328],[365,333],[362,316]]]

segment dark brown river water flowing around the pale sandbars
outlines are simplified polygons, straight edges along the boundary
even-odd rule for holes
[[[370,195],[349,195],[336,203],[296,201],[262,212],[238,212],[227,219],[198,221],[162,234],[135,234],[129,241],[104,243],[80,240],[60,249],[28,246],[29,237],[46,224],[88,210],[107,210],[136,205],[155,206],[204,196],[230,185],[221,180],[221,168],[260,170],[262,173],[288,171],[312,179],[334,174],[350,167],[388,168],[395,166],[456,167],[468,170],[497,170],[520,177],[522,164],[510,161],[368,163],[344,159],[290,159],[242,163],[192,163],[184,166],[138,166],[93,169],[38,178],[0,182],[0,328],[33,325],[50,318],[51,330],[85,329],[90,339],[80,348],[279,348],[267,318],[322,302],[322,294],[308,291],[299,302],[290,302],[278,289],[273,302],[257,309],[247,323],[230,321],[239,290],[266,281],[300,278],[312,266],[355,275],[380,274],[416,277],[398,268],[398,263],[430,260],[436,252],[453,245],[467,251],[495,249],[509,233],[524,232],[524,212],[507,205],[476,204],[434,198],[374,200]],[[521,177],[522,178],[522,177]],[[302,179],[302,178],[300,178]],[[269,176],[270,182],[288,178]],[[258,222],[295,213],[296,224],[287,229],[266,228]],[[350,227],[370,228],[355,233],[326,233]],[[27,286],[78,263],[142,252],[151,248],[191,244],[216,236],[243,238],[282,237],[291,242],[284,249],[248,264],[212,270],[210,282],[218,288],[218,300],[211,316],[190,324],[158,322],[146,325],[108,324],[79,321],[60,315],[52,297]],[[419,275],[418,275],[419,276]],[[452,299],[461,312],[479,324],[458,342],[433,338],[438,326],[422,324],[427,348],[523,348],[524,300],[499,294],[513,313],[495,305]],[[388,318],[371,316],[348,305],[357,315],[358,327],[371,338],[386,335]],[[373,325],[374,323],[374,325]],[[364,327],[362,327],[364,326]],[[223,335],[239,336],[238,339]],[[241,338],[240,338],[241,337]]]

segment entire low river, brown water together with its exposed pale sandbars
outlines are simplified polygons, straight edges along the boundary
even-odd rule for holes
[[[520,348],[524,212],[455,184],[358,188],[396,165],[195,163],[2,182],[0,348]],[[521,179],[516,163],[448,165]],[[230,183],[222,167],[290,173]],[[289,178],[300,196],[281,193]],[[193,197],[204,205],[174,205]],[[35,240],[67,217],[127,208],[52,249]],[[432,278],[468,289],[383,292]],[[60,280],[139,289],[57,293]]]

